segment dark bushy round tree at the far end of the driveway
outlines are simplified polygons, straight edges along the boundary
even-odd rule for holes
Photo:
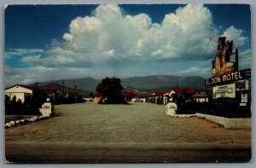
[[[102,82],[97,85],[96,91],[102,94],[108,104],[125,103],[124,97],[121,95],[123,86],[120,78],[103,78]]]

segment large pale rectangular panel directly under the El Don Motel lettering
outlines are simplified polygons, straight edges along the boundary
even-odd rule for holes
[[[219,97],[236,98],[236,84],[224,84],[212,88],[213,99]]]

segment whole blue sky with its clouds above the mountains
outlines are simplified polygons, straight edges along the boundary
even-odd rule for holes
[[[221,36],[239,50],[239,68],[251,68],[247,4],[9,5],[4,23],[6,86],[106,76],[211,78]]]

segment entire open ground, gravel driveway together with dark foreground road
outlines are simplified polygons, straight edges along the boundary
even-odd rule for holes
[[[172,118],[150,103],[55,106],[54,118],[5,130],[6,159],[26,163],[247,162],[251,130]]]

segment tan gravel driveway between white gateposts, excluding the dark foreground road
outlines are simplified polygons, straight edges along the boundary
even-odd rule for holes
[[[136,102],[55,106],[55,117],[5,130],[6,142],[250,142],[251,130],[226,130],[206,119],[172,118],[166,107]]]

